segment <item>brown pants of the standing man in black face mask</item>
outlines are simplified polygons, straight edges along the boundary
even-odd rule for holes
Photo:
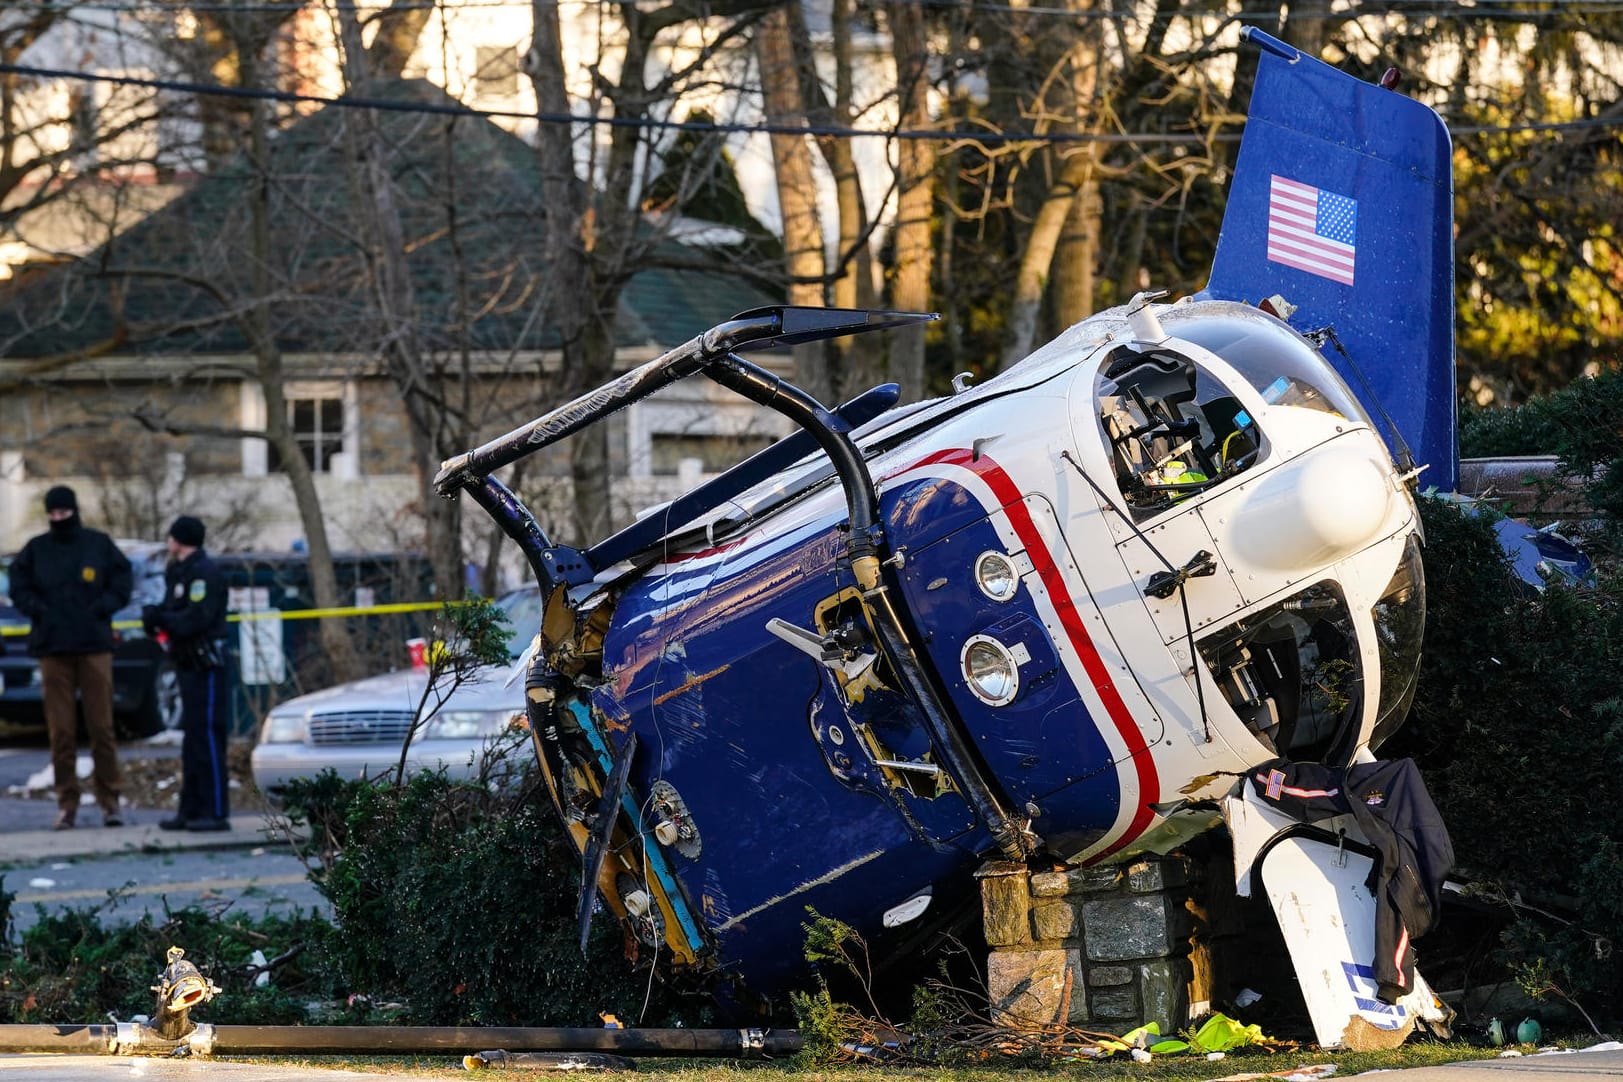
[[[45,693],[45,727],[50,730],[50,766],[57,772],[57,806],[78,813],[80,775],[78,711],[84,706],[84,732],[91,738],[96,803],[102,811],[118,808],[118,745],[112,735],[112,654],[57,654],[39,659],[39,680]],[[78,693],[75,696],[75,691]]]

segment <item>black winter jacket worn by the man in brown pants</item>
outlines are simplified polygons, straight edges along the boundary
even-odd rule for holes
[[[41,534],[11,561],[11,603],[28,616],[28,652],[107,654],[112,615],[130,603],[130,561],[101,530]]]

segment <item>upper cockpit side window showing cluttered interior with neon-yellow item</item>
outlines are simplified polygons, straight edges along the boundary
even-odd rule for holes
[[[1172,350],[1120,349],[1096,383],[1099,425],[1136,517],[1256,462],[1256,422],[1211,373]]]

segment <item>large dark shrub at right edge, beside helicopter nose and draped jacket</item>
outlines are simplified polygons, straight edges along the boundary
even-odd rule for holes
[[[1595,589],[1529,594],[1513,587],[1487,516],[1438,500],[1422,516],[1420,683],[1381,754],[1420,762],[1461,869],[1519,900],[1505,959],[1618,1017],[1623,577],[1602,566]]]

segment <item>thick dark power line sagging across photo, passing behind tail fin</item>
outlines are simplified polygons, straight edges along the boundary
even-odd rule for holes
[[[661,120],[657,117],[583,117],[576,114],[555,112],[523,112],[518,109],[474,109],[463,104],[441,102],[401,102],[383,97],[325,97],[320,94],[295,94],[292,91],[248,89],[242,86],[222,86],[211,83],[180,83],[175,79],[143,79],[128,75],[99,75],[91,71],[68,71],[63,68],[37,68],[19,63],[0,63],[0,75],[32,75],[50,79],[80,79],[84,83],[110,83],[115,86],[140,86],[154,91],[175,91],[180,94],[201,94],[211,97],[235,97],[242,101],[273,101],[284,104],[307,104],[336,109],[375,109],[380,112],[427,114],[440,117],[477,117],[482,120],[534,120],[536,123],[566,123],[594,128],[643,128],[649,131],[693,131],[700,135],[812,135],[852,140],[936,140],[945,143],[1042,143],[1042,144],[1209,144],[1233,143],[1240,140],[1238,131],[1211,135],[1180,131],[992,131],[979,128],[847,128],[839,125],[795,125],[795,123],[721,123],[693,120]],[[1457,125],[1449,127],[1451,136],[1461,135],[1514,135],[1524,131],[1586,131],[1623,128],[1623,117],[1589,117],[1584,120],[1548,120],[1514,125]]]

